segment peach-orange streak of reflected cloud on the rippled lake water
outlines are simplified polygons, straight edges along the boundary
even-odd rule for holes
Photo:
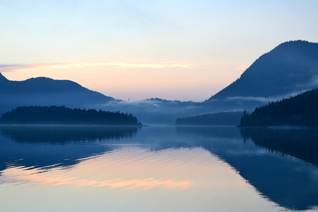
[[[91,159],[91,158],[90,158]],[[94,163],[91,163],[92,165]],[[83,167],[81,167],[83,168]],[[57,174],[58,172],[64,174]],[[153,177],[143,179],[123,179],[123,178],[112,178],[112,179],[87,179],[82,178],[82,173],[79,176],[65,176],[65,171],[57,169],[55,167],[54,173],[47,172],[45,175],[40,174],[44,171],[39,171],[37,168],[30,167],[11,167],[5,170],[7,176],[6,183],[32,183],[37,186],[43,185],[44,187],[54,186],[74,186],[74,187],[107,187],[109,189],[152,189],[152,188],[170,188],[170,189],[187,189],[190,187],[190,182],[186,180],[176,179],[156,179]],[[99,172],[105,172],[100,170]],[[95,172],[91,172],[95,174]]]

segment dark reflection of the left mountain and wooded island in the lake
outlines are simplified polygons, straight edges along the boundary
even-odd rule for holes
[[[136,136],[138,127],[1,126],[0,175],[6,167],[31,167],[38,172],[70,168],[80,159],[100,155]]]

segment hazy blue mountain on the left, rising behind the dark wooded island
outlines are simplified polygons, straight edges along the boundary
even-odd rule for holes
[[[70,108],[91,108],[95,104],[116,101],[70,80],[36,77],[24,81],[11,81],[1,73],[0,100],[0,113],[18,106],[65,105]]]

